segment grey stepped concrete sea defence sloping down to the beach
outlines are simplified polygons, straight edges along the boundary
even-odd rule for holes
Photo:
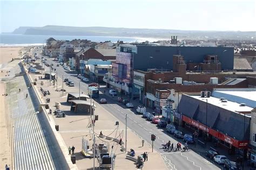
[[[19,92],[21,89],[21,92]],[[6,83],[6,114],[8,134],[12,144],[14,169],[56,169],[38,120],[38,104],[31,98],[24,76]],[[28,94],[28,98],[26,98]],[[57,168],[58,169],[58,168]]]

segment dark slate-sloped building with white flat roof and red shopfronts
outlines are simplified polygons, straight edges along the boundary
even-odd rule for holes
[[[230,154],[246,156],[252,110],[245,104],[205,97],[205,93],[201,93],[201,96],[183,94],[178,114],[182,118],[181,125],[197,131],[205,141],[223,146]]]

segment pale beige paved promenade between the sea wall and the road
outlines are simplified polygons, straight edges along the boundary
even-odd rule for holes
[[[49,67],[46,67],[48,71]],[[31,74],[31,77],[37,78],[42,76],[41,74]],[[41,85],[41,81],[44,81],[44,85]],[[93,159],[86,159],[80,153],[82,151],[82,138],[85,138],[89,141],[89,146],[92,146],[91,135],[87,125],[89,124],[89,115],[85,114],[75,114],[70,112],[70,104],[66,103],[66,96],[62,97],[62,92],[57,92],[56,86],[50,86],[49,80],[38,80],[37,88],[42,87],[44,90],[50,91],[50,96],[42,97],[44,100],[50,97],[50,108],[52,111],[55,110],[55,101],[62,104],[61,108],[66,113],[65,118],[56,118],[54,115],[50,115],[55,120],[56,125],[59,125],[59,133],[62,135],[66,146],[75,146],[75,155],[77,158],[76,164],[79,169],[91,169],[93,166]],[[52,85],[52,84],[51,84]],[[58,89],[62,88],[62,79],[58,78]],[[69,87],[64,84],[64,89],[68,92],[78,92],[77,87]],[[106,111],[102,105],[96,104],[96,114],[99,115],[99,120],[95,124],[95,132],[99,134],[100,131],[103,134],[111,134],[110,137],[117,137],[120,135],[125,140],[125,125],[114,117],[110,112]],[[112,108],[113,109],[113,108]],[[114,131],[117,126],[115,125],[116,121],[119,121],[118,131]],[[131,131],[129,128],[127,130],[127,151],[130,151],[130,148],[133,148],[136,152],[136,155],[143,154],[144,152],[149,153],[149,160],[145,162],[144,169],[167,169],[164,160],[161,158],[161,155],[157,152],[152,152],[150,144],[145,143],[142,147],[142,139],[138,137],[134,131]],[[125,153],[120,151],[120,145],[116,142],[111,142],[106,139],[96,138],[96,143],[104,143],[109,145],[110,148],[113,146],[113,152],[117,155],[115,169],[134,169],[136,165],[134,162],[125,159]],[[68,148],[66,150],[68,154]],[[137,157],[136,157],[137,158]],[[156,164],[157,162],[157,164]],[[96,160],[96,166],[98,165]]]

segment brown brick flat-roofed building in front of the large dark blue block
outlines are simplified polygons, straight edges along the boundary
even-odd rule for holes
[[[251,74],[254,75],[254,72],[251,72]],[[138,90],[137,94],[140,103],[154,108],[157,89],[174,89],[184,93],[198,93],[205,89],[212,91],[215,88],[247,88],[249,82],[247,76],[248,74],[243,72],[236,72],[236,74],[233,74],[233,72],[213,72],[209,74],[184,73],[183,71],[134,70],[133,86],[134,89]],[[250,82],[253,84],[253,78],[250,79]],[[136,92],[135,90],[133,91]]]

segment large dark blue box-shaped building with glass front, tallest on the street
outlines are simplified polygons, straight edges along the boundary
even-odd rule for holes
[[[116,83],[112,85],[120,89],[120,84],[127,84],[126,86],[130,88],[125,92],[130,96],[140,97],[140,100],[142,100],[141,91],[144,87],[133,83],[134,70],[147,71],[150,68],[156,68],[156,70],[169,71],[172,78],[168,78],[186,77],[185,80],[191,80],[191,76],[187,74],[188,69],[206,72],[232,70],[233,60],[232,47],[136,46],[120,44],[117,47],[116,63],[112,64],[113,81]],[[134,77],[139,76],[135,76],[134,73]],[[197,79],[192,80],[200,83],[201,77],[198,74]],[[144,79],[147,80],[147,78]],[[166,80],[167,77],[164,79]],[[205,76],[204,81],[206,79],[210,80],[210,76]],[[108,82],[108,80],[106,81]]]

